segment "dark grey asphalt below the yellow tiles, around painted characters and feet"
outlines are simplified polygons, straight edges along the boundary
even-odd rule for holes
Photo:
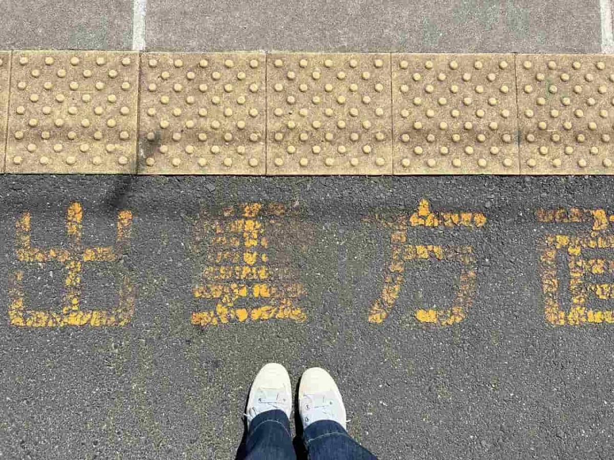
[[[84,207],[86,245],[111,243],[117,210],[134,213],[123,264],[138,290],[125,328],[0,322],[0,453],[232,458],[251,380],[262,364],[278,361],[294,381],[308,366],[329,369],[349,431],[382,459],[610,458],[612,326],[546,323],[537,266],[545,234],[589,226],[539,224],[535,210],[612,210],[612,186],[610,178],[584,177],[0,177],[2,293],[9,271],[23,267],[29,304],[60,304],[60,266],[15,261],[14,225],[29,210],[33,244],[66,247],[63,219],[74,200]],[[419,324],[416,307],[451,301],[457,270],[409,264],[389,318],[367,323],[390,253],[390,230],[369,218],[411,213],[422,198],[433,210],[486,215],[479,230],[408,233],[408,242],[473,245],[475,303],[456,326]],[[293,210],[268,235],[270,258],[305,286],[298,302],[305,323],[190,324],[192,311],[211,309],[192,297],[206,259],[206,251],[191,250],[199,210],[215,216],[244,201]],[[90,264],[82,277],[86,309],[117,296],[114,265]]]

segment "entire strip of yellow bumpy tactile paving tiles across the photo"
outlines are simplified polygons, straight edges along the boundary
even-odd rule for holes
[[[0,51],[0,172],[609,175],[612,93],[602,54]]]

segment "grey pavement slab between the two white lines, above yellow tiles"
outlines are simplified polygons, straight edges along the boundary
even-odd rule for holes
[[[599,0],[147,2],[149,50],[600,52]]]

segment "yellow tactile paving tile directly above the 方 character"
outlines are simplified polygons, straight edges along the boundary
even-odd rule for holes
[[[393,54],[394,174],[518,174],[512,54]]]

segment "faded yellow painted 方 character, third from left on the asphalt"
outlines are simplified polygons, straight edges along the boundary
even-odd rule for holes
[[[481,228],[486,224],[486,217],[476,212],[432,212],[429,202],[422,200],[418,205],[418,210],[411,215],[398,215],[392,221],[380,216],[376,218],[392,228],[391,258],[386,265],[382,293],[371,305],[368,315],[369,322],[383,323],[394,308],[405,282],[405,269],[408,262],[457,262],[461,264],[459,290],[452,305],[446,309],[418,309],[415,316],[421,323],[433,323],[440,326],[448,326],[464,320],[475,296],[476,273],[473,248],[468,245],[408,244],[407,231],[410,227]]]

